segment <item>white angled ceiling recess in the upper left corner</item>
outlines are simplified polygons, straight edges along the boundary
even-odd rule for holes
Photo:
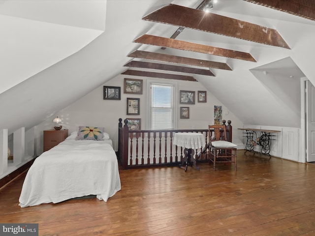
[[[0,1],[0,93],[91,43],[105,13],[106,1]]]

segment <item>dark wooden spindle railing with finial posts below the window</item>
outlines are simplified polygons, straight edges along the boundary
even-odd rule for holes
[[[183,148],[173,145],[173,137],[178,132],[202,133],[206,139],[206,147],[195,150],[197,163],[208,162],[208,129],[172,129],[172,130],[129,130],[128,120],[119,118],[118,159],[123,169],[147,168],[158,166],[180,165]],[[225,125],[225,120],[222,123]],[[232,142],[232,126],[228,120],[226,136]]]

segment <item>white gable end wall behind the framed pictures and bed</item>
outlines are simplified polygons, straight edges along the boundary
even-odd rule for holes
[[[113,140],[114,149],[118,148],[118,119],[119,118],[141,118],[141,127],[146,127],[146,77],[136,77],[143,80],[143,94],[126,94],[124,93],[124,78],[134,78],[133,76],[118,75],[104,85],[98,87],[86,96],[77,100],[63,110],[56,112],[56,116],[62,119],[63,128],[69,129],[69,134],[76,131],[79,125],[87,126],[103,126]],[[157,79],[167,81],[163,79]],[[178,82],[179,90],[195,91],[207,90],[201,83],[198,82]],[[121,87],[121,100],[103,100],[103,86]],[[178,95],[179,96],[179,95]],[[140,98],[140,115],[126,115],[126,98]],[[197,98],[196,98],[197,99]],[[231,120],[233,126],[233,142],[242,146],[242,141],[239,138],[237,128],[243,127],[242,122],[236,118],[231,112],[227,111],[225,106],[207,91],[207,102],[198,103],[190,107],[189,119],[180,119],[179,107],[183,104],[178,104],[178,129],[207,129],[209,124],[214,123],[214,106],[222,106],[222,119]],[[186,106],[186,105],[185,105]],[[55,126],[52,116],[37,125],[37,154],[43,151],[43,130],[52,129]]]

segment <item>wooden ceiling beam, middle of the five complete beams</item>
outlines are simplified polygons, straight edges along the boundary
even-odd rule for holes
[[[226,63],[216,62],[211,60],[200,60],[193,58],[178,57],[173,55],[167,55],[162,53],[152,53],[146,51],[136,50],[128,55],[129,58],[141,58],[149,60],[158,60],[164,62],[171,62],[177,64],[193,65],[207,68],[215,68],[221,70],[232,70]]]

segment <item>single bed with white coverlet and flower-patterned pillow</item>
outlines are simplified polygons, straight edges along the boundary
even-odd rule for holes
[[[78,132],[72,132],[62,143],[35,159],[22,186],[20,207],[89,195],[107,202],[121,189],[112,140],[107,133],[96,132],[95,127],[93,132],[82,127],[88,126],[80,126]]]

